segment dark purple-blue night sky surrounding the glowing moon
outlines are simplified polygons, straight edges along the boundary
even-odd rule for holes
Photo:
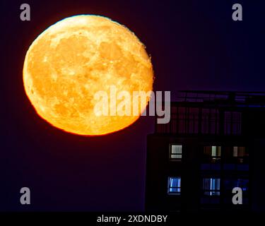
[[[31,20],[20,20],[20,4]],[[232,20],[232,4],[243,21]],[[126,25],[151,54],[155,90],[265,91],[265,1],[1,1],[0,210],[144,210],[146,135],[154,119],[107,136],[66,133],[26,97],[23,61],[49,25],[98,14]],[[31,205],[20,205],[28,186]]]

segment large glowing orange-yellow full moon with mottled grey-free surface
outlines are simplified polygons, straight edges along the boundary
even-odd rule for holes
[[[95,93],[110,94],[113,85],[117,93],[147,93],[153,89],[153,67],[145,46],[124,25],[78,15],[60,20],[34,40],[25,56],[23,83],[42,119],[70,133],[97,136],[124,129],[141,112],[97,116]]]

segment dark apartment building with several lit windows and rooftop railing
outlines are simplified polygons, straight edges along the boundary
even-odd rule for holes
[[[147,139],[146,210],[264,210],[265,93],[182,91],[170,111]]]

